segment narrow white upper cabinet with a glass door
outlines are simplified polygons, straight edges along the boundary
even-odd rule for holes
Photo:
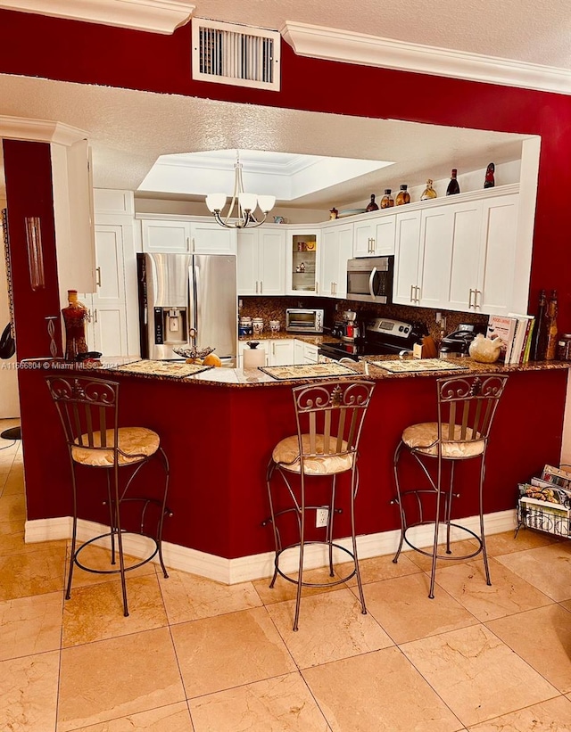
[[[286,236],[286,294],[320,295],[320,229],[307,226],[287,226]]]

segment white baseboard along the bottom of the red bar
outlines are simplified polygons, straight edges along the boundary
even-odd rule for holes
[[[466,519],[459,519],[457,523],[461,526],[479,531],[479,517],[470,516]],[[501,531],[516,529],[516,510],[499,511],[495,514],[485,516],[486,536],[498,534]],[[103,524],[79,520],[78,539],[87,541],[93,536],[103,534],[109,530]],[[37,541],[53,541],[54,539],[71,538],[71,518],[63,516],[54,519],[37,519],[37,521],[26,522],[26,543]],[[400,537],[399,530],[383,531],[376,534],[365,534],[358,537],[357,547],[360,559],[368,559],[374,556],[390,555],[396,551]],[[452,530],[452,540],[465,539],[466,536],[459,530]],[[430,527],[420,527],[410,538],[418,547],[432,546],[434,539]],[[123,539],[125,551],[132,556],[143,557],[148,552],[148,539],[136,534],[127,534]],[[338,542],[342,547],[351,548],[351,539],[340,539]],[[180,547],[177,544],[162,542],[162,555],[167,567],[182,572],[190,572],[215,580],[227,585],[234,585],[238,582],[248,580],[260,580],[270,577],[273,572],[274,553],[241,556],[237,559],[225,559],[222,556],[206,554],[205,552]],[[336,552],[337,561],[343,561],[343,552]],[[157,557],[153,559],[158,562]],[[310,569],[327,565],[327,555],[323,547],[310,545],[305,552],[305,566]],[[280,567],[285,572],[294,572],[297,568],[297,557],[294,552],[291,555],[283,555]]]

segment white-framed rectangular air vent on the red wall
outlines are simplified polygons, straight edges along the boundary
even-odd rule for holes
[[[279,91],[280,35],[193,18],[193,78]]]

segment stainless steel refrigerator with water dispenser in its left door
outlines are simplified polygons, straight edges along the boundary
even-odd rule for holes
[[[193,342],[236,358],[236,257],[137,254],[137,276],[142,358],[180,358],[173,348]]]

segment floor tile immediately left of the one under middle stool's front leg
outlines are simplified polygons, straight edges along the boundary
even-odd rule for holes
[[[295,670],[263,607],[180,623],[170,631],[188,699]]]

